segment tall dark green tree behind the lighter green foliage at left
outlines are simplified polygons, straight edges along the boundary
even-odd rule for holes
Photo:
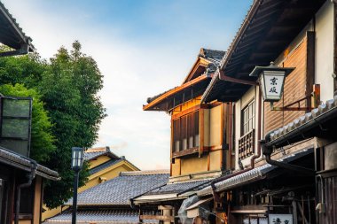
[[[48,159],[37,160],[58,171],[62,179],[46,183],[44,202],[48,207],[62,205],[72,197],[71,147],[90,147],[97,140],[99,124],[106,116],[97,96],[102,78],[95,60],[82,53],[77,41],[70,52],[61,47],[48,62],[37,54],[0,58],[0,82],[36,89],[51,119],[56,149]],[[83,169],[80,186],[88,175]]]

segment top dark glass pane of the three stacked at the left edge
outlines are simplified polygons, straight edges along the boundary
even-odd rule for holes
[[[3,115],[11,117],[29,117],[30,100],[27,99],[3,99]]]

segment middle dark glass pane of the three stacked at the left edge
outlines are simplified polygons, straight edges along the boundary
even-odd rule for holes
[[[29,120],[4,119],[2,127],[3,137],[20,137],[28,139]]]

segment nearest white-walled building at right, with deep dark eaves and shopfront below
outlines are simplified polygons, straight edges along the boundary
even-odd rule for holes
[[[336,5],[256,0],[201,97],[233,106],[235,171],[197,193],[224,221],[336,223]],[[271,104],[253,75],[270,61],[292,70]]]

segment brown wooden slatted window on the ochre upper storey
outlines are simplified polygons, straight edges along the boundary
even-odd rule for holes
[[[199,111],[173,120],[173,151],[199,146]]]

